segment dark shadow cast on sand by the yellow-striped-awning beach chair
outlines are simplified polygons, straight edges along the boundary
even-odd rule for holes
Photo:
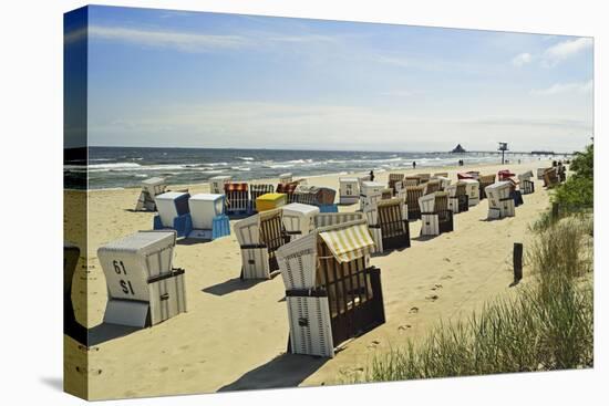
[[[281,354],[234,383],[223,386],[218,392],[295,387],[327,361],[328,358],[310,355]]]

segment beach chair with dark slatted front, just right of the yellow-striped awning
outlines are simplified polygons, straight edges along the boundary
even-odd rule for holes
[[[383,199],[364,211],[374,240],[374,252],[410,247],[407,209],[400,197]]]

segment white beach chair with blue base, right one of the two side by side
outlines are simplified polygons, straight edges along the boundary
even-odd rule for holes
[[[197,194],[188,199],[193,229],[187,238],[213,241],[230,236],[230,222],[224,214],[225,195]]]

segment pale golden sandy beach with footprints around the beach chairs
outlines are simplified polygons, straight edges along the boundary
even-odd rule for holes
[[[479,170],[536,173],[547,162],[522,165],[417,168],[404,173]],[[398,170],[396,170],[398,171]],[[388,173],[376,174],[386,183]],[[298,174],[295,174],[298,178]],[[338,190],[338,175],[309,178],[309,185]],[[273,179],[273,183],[277,180]],[[64,337],[64,382],[89,381],[89,398],[122,398],[194,394],[234,389],[332,385],[350,381],[376,354],[419,339],[433,326],[466,317],[495,298],[513,294],[527,283],[509,288],[514,242],[529,240],[528,226],[548,208],[541,181],[524,196],[516,217],[486,221],[487,200],[455,215],[455,230],[420,239],[421,221],[412,221],[412,247],[372,257],[381,269],[386,323],[349,342],[334,358],[286,354],[288,315],[281,277],[268,281],[240,281],[239,246],[231,235],[213,242],[179,240],[174,266],[186,270],[187,313],[152,329],[144,329],[95,344],[87,350]],[[183,188],[184,186],[173,186]],[[192,194],[208,185],[190,185]],[[64,192],[65,210],[82,210],[83,191]],[[152,229],[152,212],[134,212],[140,189],[89,191],[89,236],[74,275],[76,317],[87,327],[99,325],[106,304],[106,285],[96,258],[100,246],[137,230]],[[338,194],[337,194],[338,195]],[[353,211],[359,205],[340,206]],[[233,221],[231,221],[233,222]],[[64,239],[84,246],[74,223]],[[85,308],[84,301],[89,301]],[[89,353],[89,364],[84,355]]]

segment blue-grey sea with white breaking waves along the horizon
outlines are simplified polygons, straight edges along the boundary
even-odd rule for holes
[[[64,186],[68,189],[114,189],[140,186],[143,179],[162,176],[169,184],[205,183],[218,175],[251,180],[292,173],[295,177],[328,174],[347,175],[374,170],[499,163],[497,155],[450,153],[393,153],[349,150],[211,149],[89,147],[89,160],[64,160]],[[509,159],[537,160],[529,155]],[[87,165],[86,165],[87,164]]]

